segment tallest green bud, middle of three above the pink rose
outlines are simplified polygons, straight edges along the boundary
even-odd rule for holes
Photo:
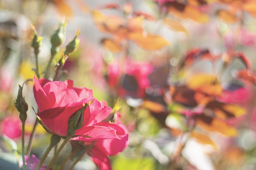
[[[60,46],[63,41],[64,41],[64,29],[65,29],[65,24],[60,23],[60,26],[58,27],[58,29],[56,29],[56,31],[54,32],[54,34],[51,36],[51,43],[53,47],[58,47]]]

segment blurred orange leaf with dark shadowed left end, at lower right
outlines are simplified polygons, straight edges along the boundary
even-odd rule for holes
[[[222,120],[213,119],[205,115],[195,115],[196,125],[202,127],[206,131],[217,131],[227,137],[233,137],[237,135],[236,128],[228,125]]]

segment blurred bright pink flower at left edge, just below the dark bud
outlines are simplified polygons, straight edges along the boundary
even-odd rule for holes
[[[2,134],[5,134],[6,136],[12,139],[21,137],[22,131],[20,128],[21,128],[21,121],[18,116],[6,117],[1,122]]]

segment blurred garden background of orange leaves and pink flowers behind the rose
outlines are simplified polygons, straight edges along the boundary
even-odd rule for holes
[[[256,169],[255,0],[1,0],[1,169],[18,169],[13,156],[21,131],[13,103],[16,84],[35,75],[34,30],[43,37],[44,74],[50,36],[62,22],[65,41],[50,79],[80,30],[59,80],[74,80],[108,106],[120,106],[129,146],[110,157],[114,170]],[[27,143],[36,120],[32,86],[23,92]],[[38,127],[32,154],[40,158],[49,139]],[[70,150],[71,144],[57,164]],[[96,166],[84,156],[74,169]]]

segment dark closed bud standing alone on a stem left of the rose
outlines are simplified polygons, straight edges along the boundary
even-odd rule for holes
[[[15,107],[20,112],[20,120],[25,122],[27,119],[27,111],[28,111],[28,104],[25,101],[25,98],[22,96],[23,86],[19,86],[18,96],[16,101],[14,102]]]

